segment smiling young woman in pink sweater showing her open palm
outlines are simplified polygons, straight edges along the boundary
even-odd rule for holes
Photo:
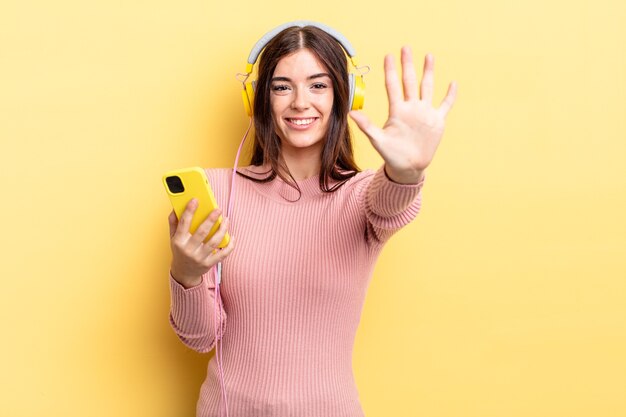
[[[253,157],[238,169],[230,218],[203,244],[219,211],[194,234],[194,200],[180,221],[170,215],[171,323],[200,352],[213,349],[218,330],[232,416],[363,416],[352,348],[366,290],[385,242],[419,211],[424,171],[456,96],[451,83],[433,107],[432,56],[419,91],[406,47],[401,62],[402,82],[385,57],[389,118],[379,128],[350,111],[346,53],[336,37],[314,25],[282,30],[260,59]],[[377,171],[359,172],[354,163],[348,115],[382,156]],[[207,170],[220,207],[231,174]],[[226,231],[231,243],[214,250]],[[220,261],[216,300],[209,272]],[[198,416],[219,412],[217,357]]]

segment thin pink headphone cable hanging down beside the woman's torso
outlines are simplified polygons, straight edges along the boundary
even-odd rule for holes
[[[235,196],[235,177],[237,176],[237,165],[239,165],[239,155],[241,154],[241,150],[243,149],[243,144],[248,137],[248,133],[250,132],[250,128],[252,127],[252,118],[250,118],[250,123],[248,124],[248,129],[246,133],[243,135],[241,139],[241,143],[239,144],[239,149],[237,150],[237,156],[235,157],[235,166],[233,167],[233,175],[230,181],[230,192],[228,194],[228,208],[226,210],[226,217],[230,220],[230,216],[233,212],[233,201]],[[222,400],[224,401],[225,409],[226,409],[226,417],[228,417],[228,399],[226,398],[226,385],[224,384],[224,368],[223,368],[223,359],[222,359],[222,336],[224,334],[224,329],[222,327],[222,298],[220,296],[220,283],[222,282],[222,263],[219,262],[216,266],[211,268],[213,271],[213,278],[215,282],[215,297],[214,297],[214,305],[215,311],[213,314],[213,328],[215,329],[215,360],[217,361],[217,369],[218,375],[220,379],[220,387],[222,390],[222,397],[220,399],[220,404],[218,408],[218,414],[222,415]],[[219,329],[218,329],[219,327]]]

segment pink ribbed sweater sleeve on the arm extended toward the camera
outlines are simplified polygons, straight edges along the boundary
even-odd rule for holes
[[[419,213],[424,178],[417,184],[399,184],[387,177],[384,166],[363,186],[360,207],[366,218],[365,238],[371,246],[384,244]]]

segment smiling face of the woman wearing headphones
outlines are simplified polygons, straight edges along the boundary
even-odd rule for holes
[[[321,152],[333,107],[328,71],[308,49],[278,61],[270,85],[270,105],[282,151]]]

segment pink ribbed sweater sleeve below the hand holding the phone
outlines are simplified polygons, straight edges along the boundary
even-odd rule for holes
[[[170,273],[170,324],[180,340],[193,350],[206,353],[215,347],[215,328],[221,339],[226,326],[223,303],[215,314],[215,285],[213,269],[202,276],[195,287],[185,288]]]

